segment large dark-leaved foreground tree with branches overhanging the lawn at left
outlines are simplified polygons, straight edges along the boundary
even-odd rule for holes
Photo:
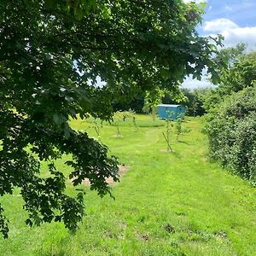
[[[83,195],[64,193],[55,166],[62,154],[72,156],[66,164],[74,186],[89,178],[105,195],[105,177],[118,180],[108,148],[74,131],[69,118],[111,119],[114,97],[156,87],[175,92],[177,81],[200,78],[205,66],[217,78],[211,56],[218,50],[195,32],[202,13],[181,0],[0,2],[0,195],[20,188],[27,224],[77,228]],[[49,177],[39,175],[42,161]],[[1,206],[0,230],[8,236]]]

